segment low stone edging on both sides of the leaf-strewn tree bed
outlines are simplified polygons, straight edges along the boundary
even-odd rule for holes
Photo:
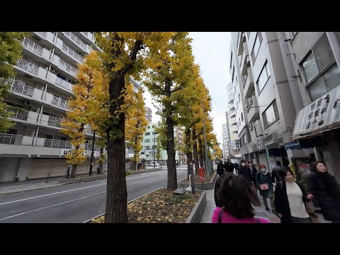
[[[161,187],[163,188],[163,187]],[[156,190],[154,191],[158,191],[160,188],[157,188]],[[142,198],[144,196],[147,196],[148,194],[150,193],[153,193],[154,191],[151,191],[143,196],[140,196],[138,198],[135,198],[134,200],[131,200],[129,203],[132,203],[134,202],[135,200],[139,199],[139,198]],[[177,196],[181,196],[181,195],[177,195]],[[128,204],[129,204],[128,203]],[[205,206],[207,205],[207,196],[206,196],[206,192],[203,191],[203,193],[200,195],[200,198],[198,199],[198,202],[196,203],[196,205],[194,206],[193,210],[191,211],[190,215],[188,216],[188,219],[186,220],[185,223],[199,223],[200,220],[202,219],[203,217],[203,213],[205,211]],[[94,220],[98,217],[101,217],[105,215],[105,212],[104,213],[101,213],[100,215],[96,215],[95,217],[92,217],[91,219],[89,220],[85,220],[83,223],[89,223],[91,222],[91,220]]]

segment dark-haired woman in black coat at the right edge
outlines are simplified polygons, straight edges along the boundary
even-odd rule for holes
[[[312,164],[312,171],[307,179],[310,193],[317,199],[325,220],[340,223],[340,185],[329,174],[324,162]]]

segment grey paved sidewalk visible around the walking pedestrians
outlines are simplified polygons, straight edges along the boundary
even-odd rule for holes
[[[259,196],[259,193],[258,193]],[[262,201],[262,197],[259,196],[260,202],[261,202],[261,206],[256,206],[254,208],[254,213],[255,213],[255,217],[261,217],[263,219],[269,220],[272,223],[280,223],[280,219],[273,214],[273,212],[271,211],[271,205],[269,203],[269,199],[268,201],[268,208],[270,210],[266,210],[266,207],[263,205],[263,201]],[[207,191],[207,205],[205,207],[205,211],[202,217],[202,220],[200,220],[200,223],[211,223],[211,217],[212,217],[212,213],[214,212],[216,208],[215,205],[215,198],[214,198],[214,190],[208,190]],[[324,217],[321,213],[317,213],[317,215],[319,216],[319,220],[321,223],[330,223],[328,220],[324,220]]]

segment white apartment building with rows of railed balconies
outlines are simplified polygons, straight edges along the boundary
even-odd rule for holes
[[[0,182],[66,174],[63,155],[72,146],[60,132],[60,118],[68,111],[77,65],[91,50],[99,50],[90,32],[32,32],[22,45],[16,78],[1,81],[10,85],[4,101],[16,125],[0,134]],[[86,131],[91,139],[89,127]],[[90,156],[89,142],[83,146]],[[79,164],[78,174],[88,171],[89,160]]]

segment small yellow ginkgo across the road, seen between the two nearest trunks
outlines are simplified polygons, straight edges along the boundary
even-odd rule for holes
[[[138,155],[142,150],[142,140],[147,130],[147,119],[145,118],[145,104],[143,90],[140,89],[137,94],[133,91],[133,85],[128,84],[125,92],[125,105],[128,106],[125,114],[125,140],[128,140],[128,146],[132,147],[134,156],[132,162],[140,162]],[[135,164],[133,164],[135,166]],[[137,169],[137,166],[136,166]]]

